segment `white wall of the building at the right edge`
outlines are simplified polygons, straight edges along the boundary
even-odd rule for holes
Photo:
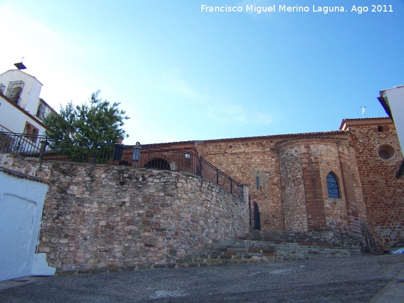
[[[404,150],[404,85],[382,90],[380,95],[387,99],[401,150]]]

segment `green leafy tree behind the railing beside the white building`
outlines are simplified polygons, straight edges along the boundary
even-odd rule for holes
[[[69,102],[60,107],[60,114],[48,113],[43,123],[48,128],[46,136],[56,139],[74,139],[87,142],[111,144],[119,138],[128,137],[122,129],[129,117],[120,110],[120,103],[111,104],[99,97],[99,90],[93,92],[89,105],[82,103],[74,108]]]

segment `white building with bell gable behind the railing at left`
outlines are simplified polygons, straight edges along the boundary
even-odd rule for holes
[[[0,131],[15,134],[43,135],[42,118],[54,111],[39,97],[42,83],[27,73],[14,69],[0,74]]]

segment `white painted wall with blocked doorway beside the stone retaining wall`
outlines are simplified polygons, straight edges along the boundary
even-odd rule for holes
[[[0,281],[54,275],[45,254],[36,254],[48,185],[0,170]]]

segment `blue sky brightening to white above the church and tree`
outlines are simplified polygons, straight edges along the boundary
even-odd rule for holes
[[[100,89],[131,117],[125,144],[338,130],[363,106],[386,116],[379,90],[404,84],[404,0],[380,3],[393,12],[363,0],[0,0],[0,72],[24,56],[57,111]],[[347,12],[313,12],[325,5]]]

